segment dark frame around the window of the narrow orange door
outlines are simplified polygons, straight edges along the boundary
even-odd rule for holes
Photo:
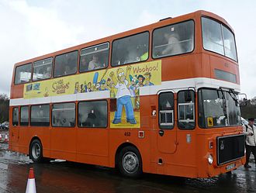
[[[171,93],[173,95],[173,110],[172,111],[172,125],[161,125],[161,119],[160,119],[160,107],[159,107],[159,102],[160,102],[160,95],[163,94],[163,93]],[[164,129],[164,130],[172,130],[172,129],[175,129],[175,91],[171,91],[171,90],[163,90],[163,91],[159,91],[158,94],[157,94],[158,98],[157,98],[157,106],[158,106],[158,109],[157,109],[157,117],[158,117],[158,127],[159,129]],[[165,110],[165,111],[168,111],[168,110]],[[164,127],[167,127],[167,126],[171,126],[171,128],[164,128]]]

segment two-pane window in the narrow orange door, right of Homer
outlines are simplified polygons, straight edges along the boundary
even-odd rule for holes
[[[162,92],[158,98],[159,125],[161,129],[172,129],[174,127],[174,94],[172,92]]]

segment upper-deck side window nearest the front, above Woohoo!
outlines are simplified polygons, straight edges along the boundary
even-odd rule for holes
[[[180,22],[155,29],[153,58],[189,53],[194,49],[194,22]]]

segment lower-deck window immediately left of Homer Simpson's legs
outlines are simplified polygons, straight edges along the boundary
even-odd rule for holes
[[[107,102],[79,102],[78,126],[79,127],[103,127],[107,126]]]

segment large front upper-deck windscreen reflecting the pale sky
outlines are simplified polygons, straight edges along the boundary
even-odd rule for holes
[[[204,49],[237,61],[234,34],[219,22],[202,17],[202,41]]]

